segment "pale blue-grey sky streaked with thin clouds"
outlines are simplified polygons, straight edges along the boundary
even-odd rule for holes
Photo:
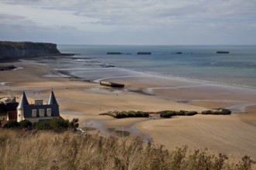
[[[0,41],[256,45],[255,0],[0,0]]]

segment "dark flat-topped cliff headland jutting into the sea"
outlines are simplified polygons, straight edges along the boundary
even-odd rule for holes
[[[61,54],[54,43],[0,41],[0,59]]]

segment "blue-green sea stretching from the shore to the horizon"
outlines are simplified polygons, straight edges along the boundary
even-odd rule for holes
[[[256,88],[256,46],[57,45],[57,48],[61,53],[75,53],[74,59],[86,60],[93,68],[103,66]],[[109,52],[120,54],[107,54]],[[138,52],[149,52],[150,55],[138,55]],[[79,73],[84,75],[82,69]]]

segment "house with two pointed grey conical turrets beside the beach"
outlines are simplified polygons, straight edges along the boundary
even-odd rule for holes
[[[60,117],[59,105],[57,104],[54,91],[51,91],[47,104],[43,100],[35,100],[34,104],[29,104],[26,93],[23,92],[17,107],[17,121],[28,120],[33,122],[47,121],[53,117]]]

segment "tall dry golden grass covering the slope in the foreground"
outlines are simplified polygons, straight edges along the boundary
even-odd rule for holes
[[[222,154],[209,155],[206,150],[189,152],[186,146],[170,152],[141,138],[0,129],[0,169],[255,168],[247,156],[236,163],[227,159]]]

